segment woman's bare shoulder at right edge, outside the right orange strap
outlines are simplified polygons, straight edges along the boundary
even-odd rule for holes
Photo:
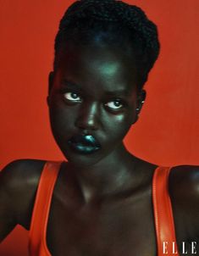
[[[176,219],[187,225],[191,236],[199,237],[199,166],[181,165],[172,168],[169,193]]]

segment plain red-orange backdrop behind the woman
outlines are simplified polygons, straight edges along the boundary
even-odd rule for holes
[[[63,159],[49,129],[47,75],[58,21],[72,2],[0,0],[0,169],[13,159]],[[158,24],[162,47],[146,84],[141,119],[125,142],[156,164],[199,164],[199,2],[127,2]],[[25,256],[26,245],[27,232],[17,228],[0,255]]]

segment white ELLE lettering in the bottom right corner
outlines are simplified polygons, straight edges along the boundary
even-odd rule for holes
[[[182,254],[196,254],[196,242],[191,242],[188,245],[186,245],[185,242],[182,242],[181,246]],[[169,242],[163,242],[163,254],[177,254],[177,246],[175,242],[172,242],[172,244],[169,244]]]

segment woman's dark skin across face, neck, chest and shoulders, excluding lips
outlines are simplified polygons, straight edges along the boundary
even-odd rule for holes
[[[69,159],[61,165],[47,225],[53,255],[156,255],[151,192],[157,166],[135,158],[123,144],[144,97],[136,89],[134,60],[122,50],[68,42],[58,69],[49,75],[47,98],[53,136]],[[97,137],[99,151],[84,155],[68,147],[69,137],[82,131]],[[30,229],[44,164],[18,160],[1,172],[0,240],[17,224]],[[171,170],[179,248],[199,237],[198,186],[198,166]]]

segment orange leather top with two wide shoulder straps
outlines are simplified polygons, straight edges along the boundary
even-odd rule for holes
[[[60,170],[60,162],[47,162],[41,173],[36,192],[36,201],[30,224],[30,256],[51,256],[47,248],[47,220],[53,196],[53,188]],[[180,254],[172,252],[172,244],[176,243],[174,218],[168,191],[170,168],[158,167],[152,178],[152,203],[157,237],[158,256]],[[165,250],[163,253],[163,242]],[[165,254],[166,253],[166,254]]]

